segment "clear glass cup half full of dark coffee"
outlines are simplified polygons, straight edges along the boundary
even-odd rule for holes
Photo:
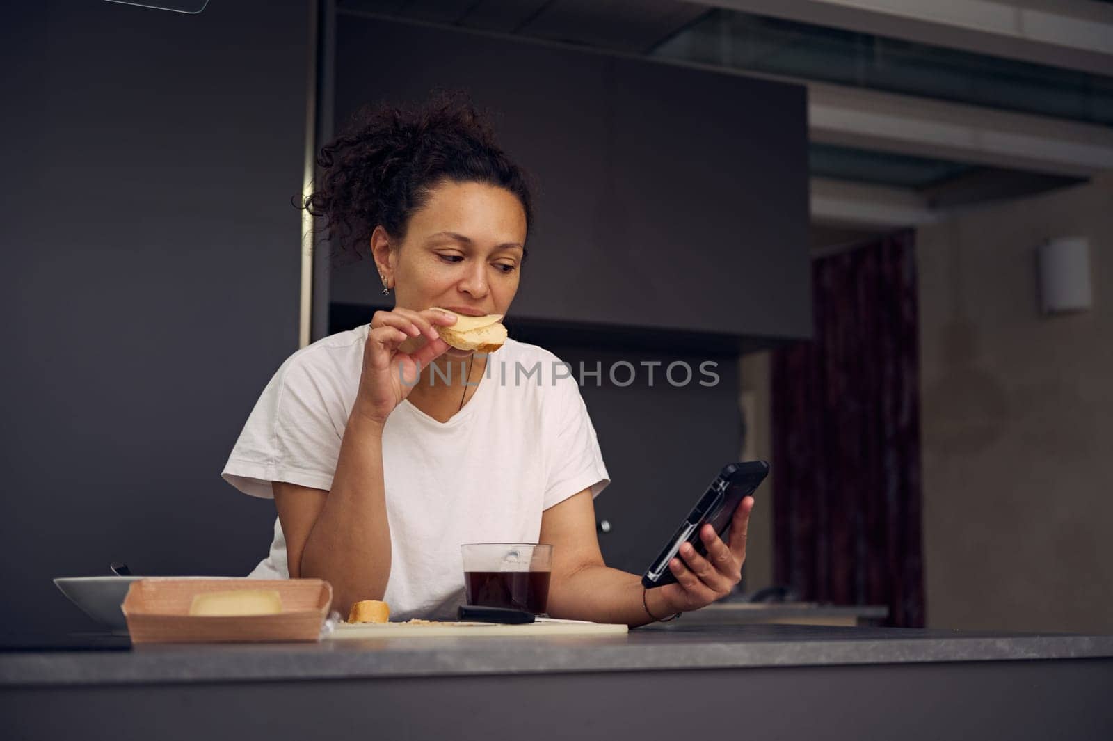
[[[464,556],[467,604],[543,615],[549,605],[553,546],[544,543],[469,543]]]

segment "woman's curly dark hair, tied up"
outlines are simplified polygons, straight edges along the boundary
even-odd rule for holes
[[[444,182],[504,188],[522,202],[526,235],[533,226],[530,176],[499,147],[489,118],[464,92],[435,92],[416,107],[364,106],[321,149],[317,165],[324,172],[299,206],[325,218],[334,254],[362,257],[376,226],[405,239],[410,217]]]

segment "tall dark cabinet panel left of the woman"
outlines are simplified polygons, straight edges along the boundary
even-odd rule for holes
[[[4,3],[4,630],[97,630],[52,576],[246,574],[220,470],[297,349],[311,3]],[[14,609],[18,604],[19,609]]]

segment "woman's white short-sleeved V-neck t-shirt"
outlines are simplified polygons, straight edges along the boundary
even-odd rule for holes
[[[292,355],[267,384],[224,468],[246,494],[270,482],[331,490],[355,402],[367,326]],[[455,366],[459,374],[461,365]],[[473,382],[475,383],[475,382]],[[610,478],[575,379],[552,353],[508,339],[445,423],[402,402],[383,431],[391,528],[392,619],[454,618],[464,602],[464,543],[536,543],[541,513]],[[250,573],[286,579],[275,521],[270,554]]]

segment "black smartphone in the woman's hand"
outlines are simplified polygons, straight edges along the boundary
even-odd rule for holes
[[[669,561],[680,552],[680,546],[684,541],[691,543],[700,555],[707,555],[707,547],[699,536],[703,523],[711,523],[715,526],[715,532],[719,533],[719,537],[727,540],[725,534],[730,530],[730,520],[735,516],[735,510],[738,508],[743,498],[752,496],[755,490],[768,474],[769,464],[765,461],[731,463],[725,466],[711,482],[711,485],[707,487],[707,492],[699,498],[692,511],[684,517],[677,534],[669,539],[669,542],[646,570],[641,577],[642,585],[646,589],[653,589],[676,583],[677,577],[669,569]]]

